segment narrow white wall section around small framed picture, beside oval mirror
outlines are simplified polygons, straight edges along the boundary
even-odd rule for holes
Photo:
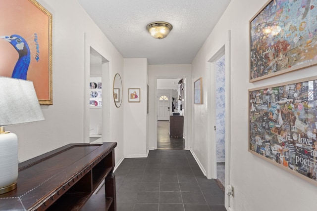
[[[147,59],[124,59],[124,155],[147,157]],[[140,88],[140,102],[128,102],[128,89]],[[122,132],[122,131],[121,131]]]

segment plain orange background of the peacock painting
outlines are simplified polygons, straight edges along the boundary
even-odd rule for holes
[[[35,60],[34,33],[38,35],[40,60]],[[29,0],[0,0],[0,36],[20,35],[29,44],[31,61],[27,80],[33,81],[39,100],[50,99],[49,16]],[[32,53],[33,52],[33,53]],[[0,39],[0,75],[11,77],[18,52]]]

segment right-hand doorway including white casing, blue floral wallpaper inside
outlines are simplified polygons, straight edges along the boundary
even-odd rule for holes
[[[209,140],[207,144],[207,178],[217,179],[221,176],[223,181],[221,183],[219,181],[220,184],[218,184],[223,189],[230,185],[231,31],[228,31],[227,38],[227,41],[217,51],[210,53],[210,59],[207,64],[207,76],[210,82],[208,86],[208,127],[210,129],[208,131]],[[220,71],[221,74],[218,75],[217,71]],[[217,103],[214,100],[215,98],[218,98],[220,103]],[[222,169],[217,169],[217,166],[219,167],[221,163],[223,163]],[[224,196],[224,202],[225,208],[229,209],[230,195]]]

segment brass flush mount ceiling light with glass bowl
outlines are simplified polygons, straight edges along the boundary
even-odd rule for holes
[[[156,39],[165,38],[172,29],[173,26],[170,23],[163,21],[156,21],[147,25],[147,30]]]

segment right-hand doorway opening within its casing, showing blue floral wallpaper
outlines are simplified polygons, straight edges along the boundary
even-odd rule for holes
[[[209,153],[208,178],[217,179],[221,188],[225,186],[226,141],[227,137],[227,85],[225,46],[222,46],[210,59],[210,94],[208,96]],[[212,131],[212,132],[211,132]]]

